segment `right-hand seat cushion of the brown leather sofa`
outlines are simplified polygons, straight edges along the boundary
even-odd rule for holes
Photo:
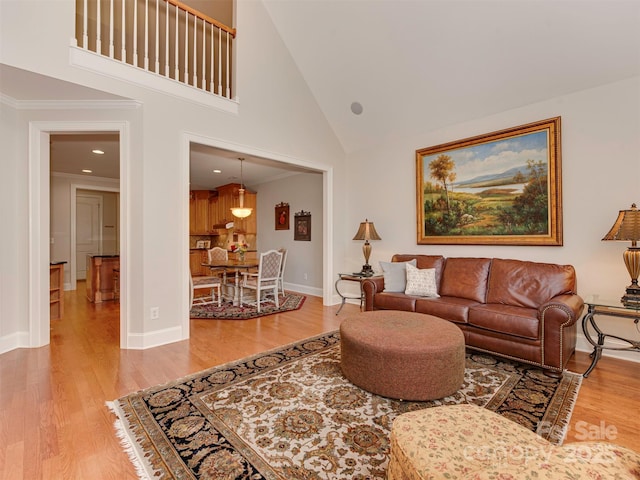
[[[476,305],[469,309],[469,325],[532,340],[540,338],[538,310],[534,308]]]

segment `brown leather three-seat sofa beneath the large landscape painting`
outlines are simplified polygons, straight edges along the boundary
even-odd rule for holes
[[[385,292],[384,277],[362,282],[365,310],[426,313],[455,323],[467,347],[537,365],[557,375],[575,350],[584,301],[571,265],[500,258],[394,255],[434,268],[439,297]]]

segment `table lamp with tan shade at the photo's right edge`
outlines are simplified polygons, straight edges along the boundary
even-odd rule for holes
[[[629,210],[620,210],[613,227],[602,240],[631,241],[631,246],[622,254],[631,276],[631,285],[627,287],[621,300],[625,305],[640,305],[640,247],[637,243],[640,240],[640,211],[635,203]]]

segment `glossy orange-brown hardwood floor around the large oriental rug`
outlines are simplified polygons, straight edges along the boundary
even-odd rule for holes
[[[51,344],[0,355],[0,479],[135,479],[105,402],[132,391],[335,330],[358,307],[300,310],[246,321],[192,320],[189,340],[148,350],[118,347],[118,305],[65,292]],[[583,372],[578,352],[569,370]],[[603,439],[637,449],[640,364],[603,358],[584,379],[566,441]]]

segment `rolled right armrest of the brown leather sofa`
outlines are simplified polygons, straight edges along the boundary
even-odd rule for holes
[[[579,295],[558,295],[538,308],[542,331],[542,363],[562,371],[576,349],[576,323],[584,309]]]

